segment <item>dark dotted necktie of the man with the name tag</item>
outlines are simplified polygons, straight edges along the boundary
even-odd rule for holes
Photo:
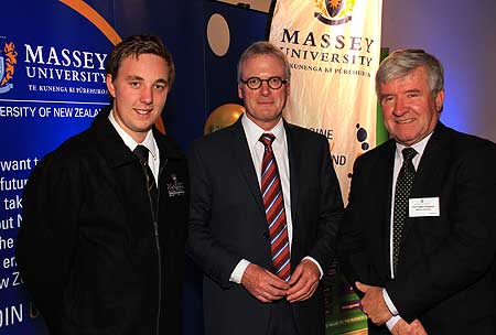
[[[405,220],[408,214],[408,199],[416,176],[412,159],[416,156],[417,151],[413,148],[405,148],[401,153],[403,154],[403,164],[396,181],[395,213],[392,217],[392,264],[395,274],[397,273]]]

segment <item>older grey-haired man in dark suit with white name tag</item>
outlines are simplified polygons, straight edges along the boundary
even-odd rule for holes
[[[496,145],[439,122],[423,51],[389,55],[376,88],[392,139],[355,162],[342,231],[369,332],[496,334]]]

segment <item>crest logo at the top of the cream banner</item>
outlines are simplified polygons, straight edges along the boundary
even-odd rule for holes
[[[314,0],[315,18],[328,25],[343,24],[352,20],[356,0]]]

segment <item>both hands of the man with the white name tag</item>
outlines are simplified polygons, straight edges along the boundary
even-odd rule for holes
[[[358,281],[355,284],[365,294],[360,301],[362,311],[367,314],[374,324],[378,326],[382,325],[392,317],[391,312],[384,301],[382,288],[366,285]],[[427,335],[425,329],[418,318],[410,324],[403,318],[400,318],[392,327],[391,333],[393,335]]]

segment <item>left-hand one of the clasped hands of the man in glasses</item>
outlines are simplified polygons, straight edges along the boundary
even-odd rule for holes
[[[289,283],[254,263],[246,268],[241,285],[261,302],[279,300],[290,289]]]

